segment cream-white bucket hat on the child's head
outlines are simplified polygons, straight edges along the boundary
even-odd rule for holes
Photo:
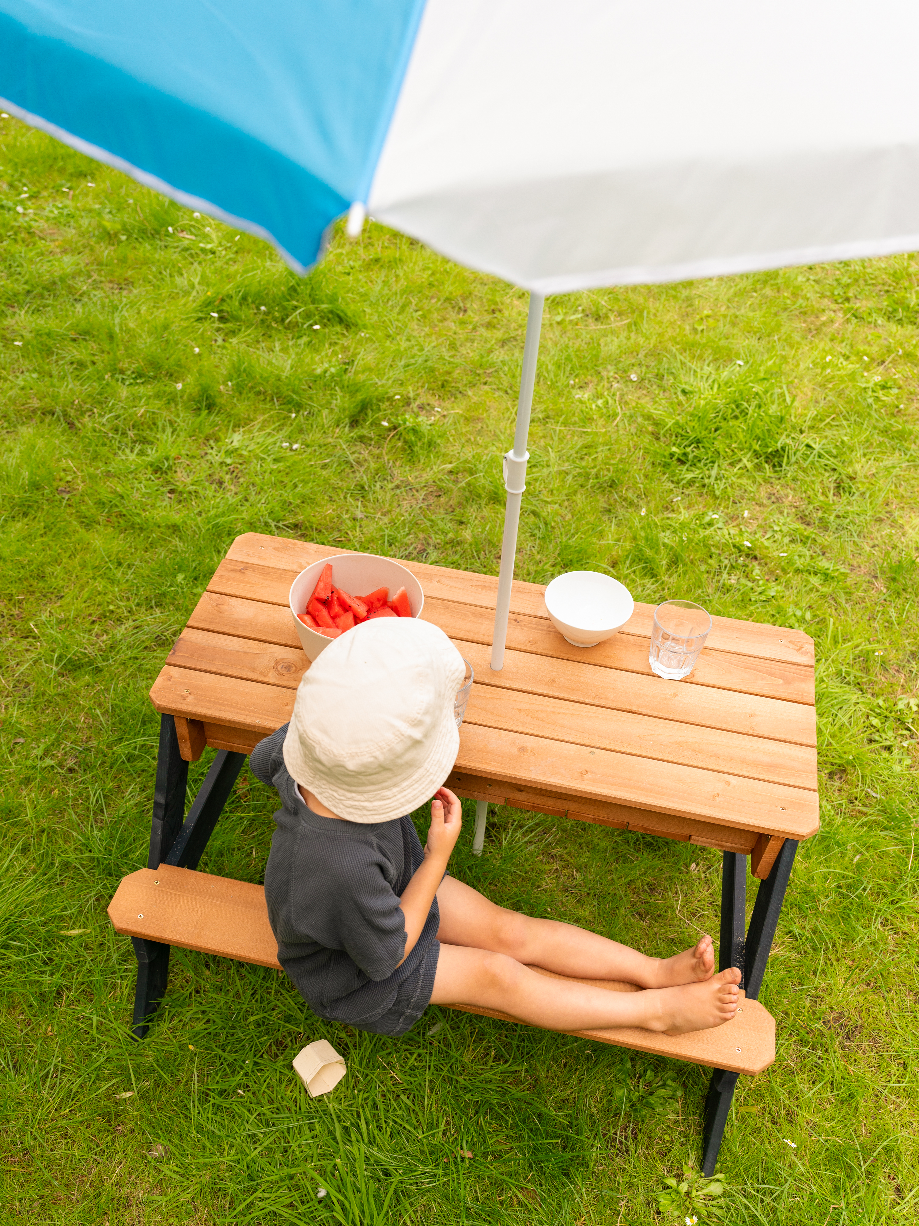
[[[429,801],[460,750],[453,700],[463,658],[417,618],[348,630],[300,682],[284,765],[348,821],[392,821]]]

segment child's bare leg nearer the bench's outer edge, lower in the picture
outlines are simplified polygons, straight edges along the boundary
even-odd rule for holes
[[[441,943],[431,1004],[477,1004],[548,1030],[641,1026],[674,1035],[729,1021],[739,981],[729,967],[702,983],[610,992],[546,978],[506,954]]]

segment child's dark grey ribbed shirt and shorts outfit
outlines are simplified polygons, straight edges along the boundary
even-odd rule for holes
[[[282,803],[265,869],[278,961],[320,1016],[354,1026],[375,1022],[393,1007],[399,986],[430,965],[430,954],[436,966],[436,899],[398,965],[407,939],[399,895],[424,859],[422,843],[410,817],[368,825],[308,808],[284,766],[286,734],[287,725],[249,759],[252,774],[273,785]],[[418,1002],[420,1009],[426,1003]]]

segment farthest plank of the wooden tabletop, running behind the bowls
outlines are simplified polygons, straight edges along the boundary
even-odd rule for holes
[[[277,570],[292,571],[293,577],[319,558],[332,558],[336,554],[353,553],[350,549],[336,549],[328,546],[310,544],[289,537],[271,537],[257,532],[246,532],[236,537],[227,553],[234,562],[268,565]],[[431,566],[423,562],[395,559],[418,579],[428,596],[453,600],[468,604],[479,604],[493,609],[497,597],[497,577],[479,575],[469,570],[450,570],[445,566]],[[548,618],[542,584],[524,584],[515,580],[511,588],[511,612],[527,613],[533,617]],[[636,602],[635,613],[622,626],[620,634],[651,636],[654,613],[653,604]],[[785,626],[766,625],[758,622],[741,622],[736,618],[712,618],[712,630],[708,644],[716,651],[730,651],[736,655],[756,656],[762,660],[778,660],[787,663],[814,663],[814,640],[801,630]]]

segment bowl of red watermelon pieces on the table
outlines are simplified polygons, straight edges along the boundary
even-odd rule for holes
[[[306,656],[380,617],[420,617],[424,592],[410,570],[373,553],[321,558],[290,585],[290,615]]]

